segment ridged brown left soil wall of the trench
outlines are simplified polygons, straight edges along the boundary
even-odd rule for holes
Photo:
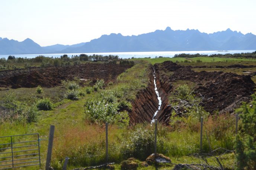
[[[136,99],[132,101],[132,111],[129,113],[130,124],[151,122],[154,113],[158,109],[159,102],[154,90],[154,70],[150,69],[150,81],[146,89],[141,90]]]

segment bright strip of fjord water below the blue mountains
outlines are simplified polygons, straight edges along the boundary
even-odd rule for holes
[[[103,56],[108,56],[108,55],[114,55],[114,56],[119,56],[119,58],[122,59],[128,59],[131,57],[134,58],[145,58],[145,57],[173,57],[175,54],[235,54],[235,53],[252,53],[256,50],[230,50],[230,51],[152,51],[152,52],[113,52],[113,53],[83,53],[83,54],[87,54],[87,55],[93,55],[93,54],[98,54],[98,55],[103,55]],[[68,57],[71,57],[72,55],[75,56],[79,56],[81,53],[70,53],[67,54]],[[63,54],[10,54],[13,55],[15,57],[27,57],[27,58],[34,58],[36,56],[42,55],[42,56],[46,56],[46,57],[60,57]],[[8,58],[9,55],[0,55],[0,58]]]

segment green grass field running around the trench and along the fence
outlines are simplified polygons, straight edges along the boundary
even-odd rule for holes
[[[55,134],[51,165],[55,170],[62,169],[66,156],[70,157],[68,169],[99,165],[105,163],[105,125],[104,123],[94,123],[87,117],[87,114],[85,114],[85,104],[88,101],[101,100],[103,97],[113,97],[111,93],[117,91],[120,93],[120,97],[114,96],[113,100],[115,100],[116,103],[125,101],[129,106],[129,102],[135,99],[137,92],[147,86],[148,63],[155,64],[163,61],[178,61],[178,64],[185,66],[226,66],[237,63],[244,65],[256,64],[255,60],[211,57],[190,58],[188,59],[191,61],[189,63],[184,63],[184,61],[187,60],[184,58],[131,60],[136,61],[137,64],[119,75],[116,82],[109,84],[105,89],[99,89],[98,91],[92,91],[90,94],[85,94],[85,96],[81,96],[79,100],[75,101],[64,98],[65,89],[62,87],[43,88],[42,94],[36,94],[36,88],[1,90],[1,99],[5,99],[6,95],[12,91],[13,95],[16,96],[16,100],[20,103],[23,102],[29,106],[33,106],[37,100],[49,98],[54,103],[55,107],[50,111],[39,111],[37,121],[33,123],[15,120],[1,121],[0,136],[39,133],[41,139],[41,161],[42,167],[44,167],[47,154],[49,126],[53,124],[55,125]],[[196,62],[196,60],[201,60],[202,62]],[[194,70],[221,71],[221,69],[216,68]],[[254,68],[241,70],[253,71]],[[226,69],[224,71],[240,73],[241,70]],[[182,81],[177,82],[175,87],[183,83]],[[80,90],[85,92],[86,88],[87,87],[81,87]],[[199,153],[199,126],[200,123],[198,121],[189,119],[184,119],[183,123],[176,124],[176,126],[173,127],[159,125],[157,140],[158,152],[169,156],[172,163],[175,164],[204,163],[202,159],[191,156],[193,153]],[[208,132],[209,143],[212,149],[217,147],[233,149],[235,137],[234,126],[234,117],[230,115],[223,115],[218,119],[216,115],[214,115],[205,120],[204,131],[207,130]],[[120,169],[119,163],[129,157],[135,157],[140,162],[145,161],[148,153],[153,153],[153,141],[154,126],[150,124],[138,124],[134,127],[123,124],[112,124],[109,126],[109,162],[115,162],[116,169]],[[141,148],[141,150],[139,148]],[[205,133],[203,149],[205,152],[210,151]],[[226,168],[234,168],[234,154],[221,156],[220,159],[223,161]],[[212,158],[208,158],[208,163],[218,166],[216,161]],[[174,164],[161,165],[157,169],[171,169],[173,166]],[[38,169],[38,167],[24,167],[21,169]],[[156,169],[156,167],[139,166],[138,169]]]

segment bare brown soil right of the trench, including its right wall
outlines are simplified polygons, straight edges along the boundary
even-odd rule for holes
[[[233,65],[232,67],[235,67]],[[239,68],[246,68],[237,66]],[[165,61],[161,64],[155,64],[157,72],[157,86],[162,99],[166,99],[172,91],[172,83],[179,80],[194,82],[195,94],[203,97],[201,105],[210,113],[215,110],[231,113],[234,108],[238,107],[242,101],[249,101],[250,95],[253,94],[255,83],[250,75],[238,75],[234,73],[223,72],[196,72],[191,70],[191,66],[185,67],[177,65],[171,61]],[[168,72],[172,72],[167,76]],[[168,123],[171,113],[171,106],[168,102],[163,103],[157,116],[159,120]]]

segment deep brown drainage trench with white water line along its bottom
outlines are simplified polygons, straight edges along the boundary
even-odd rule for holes
[[[153,66],[150,68],[149,74],[150,81],[148,86],[139,91],[136,95],[136,99],[132,101],[132,111],[129,113],[130,124],[135,125],[137,123],[151,123],[152,119],[157,119],[158,122],[167,123],[170,116],[170,106],[168,102],[168,91],[170,88],[162,86],[162,83],[159,80],[159,73],[157,68]],[[172,86],[171,86],[172,87]],[[156,93],[155,88],[159,93],[159,96]],[[159,98],[161,98],[161,103],[159,103]],[[160,106],[159,106],[160,105]],[[156,115],[155,115],[156,114]]]

